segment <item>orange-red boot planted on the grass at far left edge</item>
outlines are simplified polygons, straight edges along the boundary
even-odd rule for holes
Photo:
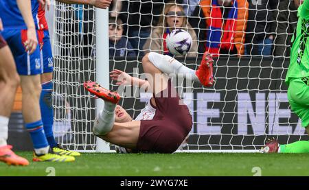
[[[11,145],[0,147],[0,161],[8,165],[29,165],[25,158],[17,156],[11,149]]]

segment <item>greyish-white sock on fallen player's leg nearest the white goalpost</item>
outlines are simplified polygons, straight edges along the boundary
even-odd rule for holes
[[[93,126],[93,133],[96,135],[104,135],[111,131],[115,121],[115,108],[116,104],[111,102],[104,102],[103,110],[100,110]]]

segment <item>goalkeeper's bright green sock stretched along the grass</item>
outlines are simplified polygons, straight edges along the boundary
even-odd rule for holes
[[[309,141],[297,141],[287,145],[280,145],[279,153],[309,153]]]

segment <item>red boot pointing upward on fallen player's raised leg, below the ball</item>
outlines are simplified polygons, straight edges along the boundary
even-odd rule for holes
[[[196,76],[204,86],[212,86],[214,84],[214,73],[213,73],[214,60],[208,51],[205,51],[201,65],[196,71]]]

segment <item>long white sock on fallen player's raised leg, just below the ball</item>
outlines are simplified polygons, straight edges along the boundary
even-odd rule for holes
[[[176,75],[182,74],[185,78],[199,82],[193,69],[185,67],[181,62],[175,60],[170,56],[164,56],[158,53],[151,52],[148,58],[152,64],[155,65],[160,71],[166,74],[175,73]]]

